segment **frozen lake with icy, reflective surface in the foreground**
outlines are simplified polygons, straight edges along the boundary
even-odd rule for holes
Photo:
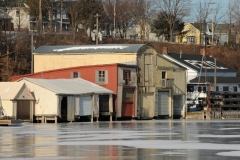
[[[24,123],[0,127],[0,159],[239,160],[240,120]]]

